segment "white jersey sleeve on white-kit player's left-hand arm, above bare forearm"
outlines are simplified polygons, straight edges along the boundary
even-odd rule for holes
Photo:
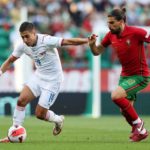
[[[14,50],[12,52],[12,55],[19,58],[21,57],[21,55],[23,54],[23,50],[24,50],[24,45],[23,43],[17,43],[15,46],[14,46]]]

